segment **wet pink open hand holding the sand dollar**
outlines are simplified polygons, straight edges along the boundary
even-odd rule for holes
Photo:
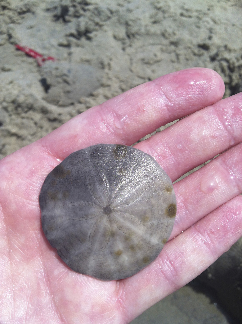
[[[221,100],[223,94],[212,70],[171,73],[85,111],[0,161],[0,322],[128,323],[241,237],[242,93]],[[38,196],[47,174],[73,151],[131,145],[187,115],[136,147],[154,156],[172,181],[225,152],[174,185],[177,217],[159,257],[117,282],[71,271],[40,226]]]

